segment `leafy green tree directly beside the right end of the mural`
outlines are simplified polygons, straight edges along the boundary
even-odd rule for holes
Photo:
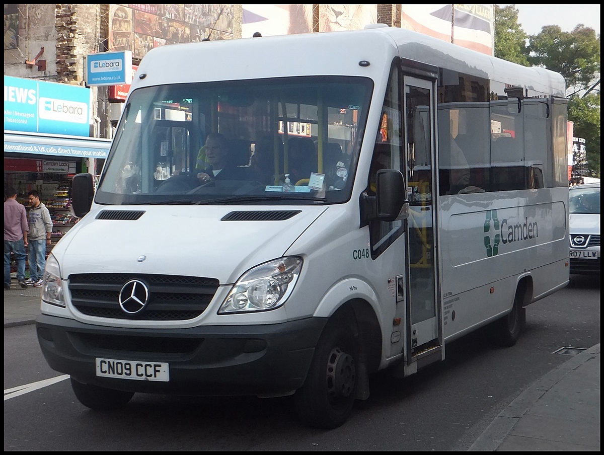
[[[516,5],[493,5],[495,57],[528,66],[527,34],[518,24]]]

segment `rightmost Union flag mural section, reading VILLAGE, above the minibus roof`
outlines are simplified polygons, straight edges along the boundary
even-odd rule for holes
[[[493,56],[493,5],[401,4],[400,27]]]

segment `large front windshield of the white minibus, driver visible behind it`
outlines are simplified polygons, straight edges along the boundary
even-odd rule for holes
[[[325,204],[350,198],[373,89],[361,77],[132,92],[99,204]]]

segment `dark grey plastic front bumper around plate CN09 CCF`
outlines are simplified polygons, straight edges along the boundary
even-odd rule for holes
[[[50,367],[87,384],[143,393],[278,396],[304,383],[326,321],[124,329],[43,314],[36,333]],[[169,363],[170,381],[98,377],[97,357]]]

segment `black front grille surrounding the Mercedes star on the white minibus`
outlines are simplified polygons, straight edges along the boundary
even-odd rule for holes
[[[136,314],[120,307],[120,291],[138,279],[149,289],[149,302]],[[95,317],[174,321],[201,315],[220,285],[214,278],[153,274],[73,274],[69,276],[71,302],[83,314]]]

